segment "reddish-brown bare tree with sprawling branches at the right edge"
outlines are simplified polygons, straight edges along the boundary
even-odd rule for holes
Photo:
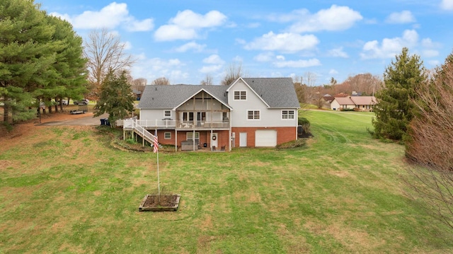
[[[406,183],[415,200],[453,228],[453,54],[415,92],[418,114],[408,128],[406,156],[421,167],[408,168]]]

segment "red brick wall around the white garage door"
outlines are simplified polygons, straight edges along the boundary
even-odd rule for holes
[[[247,132],[247,146],[255,147],[255,132],[257,129],[277,130],[277,144],[283,144],[297,139],[297,127],[234,127],[231,132],[236,132],[234,146],[239,147],[239,133]]]

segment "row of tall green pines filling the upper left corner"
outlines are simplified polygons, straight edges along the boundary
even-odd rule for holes
[[[0,2],[0,103],[5,124],[33,119],[32,107],[51,111],[52,99],[80,98],[88,88],[81,37],[69,22],[39,7],[33,1]]]

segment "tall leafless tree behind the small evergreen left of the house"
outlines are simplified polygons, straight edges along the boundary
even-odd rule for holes
[[[91,83],[91,96],[98,98],[99,89],[109,69],[114,72],[127,69],[135,60],[125,53],[125,43],[107,29],[93,30],[84,42],[84,57],[88,59],[88,81]]]

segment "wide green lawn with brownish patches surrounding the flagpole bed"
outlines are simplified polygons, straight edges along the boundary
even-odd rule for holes
[[[166,213],[138,212],[156,154],[42,128],[0,154],[0,253],[453,252],[453,232],[403,194],[403,146],[367,134],[371,113],[303,115],[302,149],[160,153],[161,186],[181,195]]]

